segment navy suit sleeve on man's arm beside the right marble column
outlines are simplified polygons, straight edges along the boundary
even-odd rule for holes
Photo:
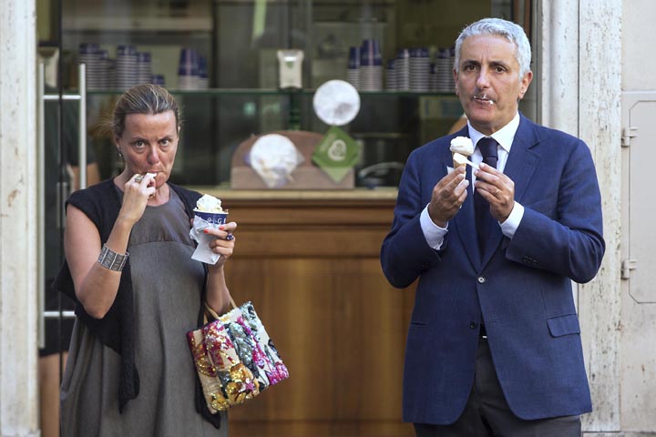
[[[605,242],[594,163],[589,148],[577,141],[565,160],[553,212],[549,215],[524,205],[524,217],[506,257],[584,283],[600,269]]]

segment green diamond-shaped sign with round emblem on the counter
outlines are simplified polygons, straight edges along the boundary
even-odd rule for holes
[[[313,163],[336,183],[342,181],[359,158],[360,145],[336,126],[328,129],[313,153]]]

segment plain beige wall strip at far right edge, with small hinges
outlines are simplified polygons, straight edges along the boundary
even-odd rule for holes
[[[620,421],[622,430],[632,432],[656,431],[656,292],[651,272],[656,234],[650,226],[656,214],[649,207],[653,201],[649,168],[656,135],[654,15],[656,2],[623,0],[621,128],[635,127],[636,137],[622,147],[621,257],[637,262],[636,269],[621,281]]]

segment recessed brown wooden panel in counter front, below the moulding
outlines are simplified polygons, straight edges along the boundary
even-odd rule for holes
[[[232,275],[251,287],[234,297],[253,301],[292,377],[235,409],[235,420],[399,417],[403,294],[386,285],[376,260],[239,264]]]

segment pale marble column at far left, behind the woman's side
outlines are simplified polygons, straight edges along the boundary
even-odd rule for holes
[[[36,11],[0,6],[0,436],[37,436]]]

